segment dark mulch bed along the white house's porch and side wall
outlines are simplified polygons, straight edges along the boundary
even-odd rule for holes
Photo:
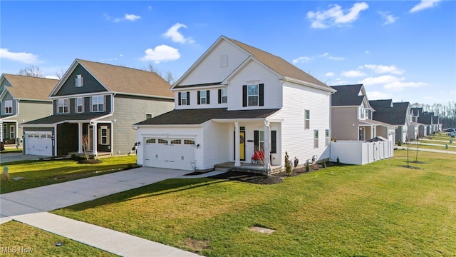
[[[326,163],[326,166],[333,166],[332,163]],[[318,171],[320,168],[323,168],[321,164],[315,164],[309,166],[309,171],[306,171],[305,167],[302,168],[295,168],[290,174],[286,172],[274,173],[269,176],[257,174],[257,173],[249,173],[249,172],[239,172],[239,171],[228,171],[225,173],[221,173],[216,176],[210,176],[209,178],[214,179],[227,179],[232,181],[242,181],[247,183],[256,183],[261,185],[272,185],[276,183],[281,183],[286,177],[290,176],[299,176],[305,173],[309,173],[312,171]]]

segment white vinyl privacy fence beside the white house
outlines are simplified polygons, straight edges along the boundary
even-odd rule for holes
[[[393,141],[336,141],[331,142],[331,160],[364,165],[394,156]]]

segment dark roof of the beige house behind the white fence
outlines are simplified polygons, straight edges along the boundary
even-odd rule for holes
[[[331,95],[331,106],[361,106],[364,95],[359,95],[363,84],[331,86],[336,93]]]

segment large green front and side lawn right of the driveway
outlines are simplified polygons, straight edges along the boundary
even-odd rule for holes
[[[53,213],[204,256],[453,256],[455,156],[420,152],[418,169],[406,154],[267,186],[171,179]]]

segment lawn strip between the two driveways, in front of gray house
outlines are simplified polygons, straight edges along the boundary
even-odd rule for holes
[[[11,178],[23,177],[19,181],[2,180],[0,193],[46,186],[53,183],[87,178],[105,173],[121,171],[136,166],[136,156],[119,156],[101,159],[99,164],[79,164],[73,160],[64,161],[16,161],[6,163]],[[3,171],[3,166],[0,166]]]

